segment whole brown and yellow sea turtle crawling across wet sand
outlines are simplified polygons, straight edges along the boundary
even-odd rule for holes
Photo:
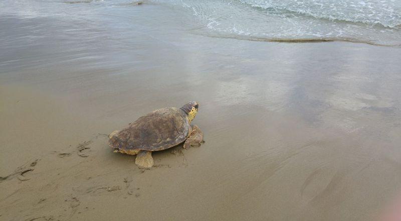
[[[140,168],[154,165],[152,151],[165,150],[182,142],[184,148],[199,146],[203,133],[191,121],[199,104],[190,101],[181,108],[165,107],[146,114],[121,131],[109,135],[114,152],[137,155],[135,164]]]

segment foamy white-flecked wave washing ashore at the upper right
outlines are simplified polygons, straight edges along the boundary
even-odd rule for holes
[[[401,1],[171,0],[168,4],[189,9],[206,24],[196,33],[207,36],[401,46]]]

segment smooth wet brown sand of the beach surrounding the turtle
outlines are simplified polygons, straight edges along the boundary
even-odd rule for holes
[[[120,42],[98,24],[25,45],[88,24],[1,21],[1,220],[376,220],[401,191],[399,48],[208,38],[161,6],[136,13]],[[188,100],[202,146],[150,170],[108,147]]]

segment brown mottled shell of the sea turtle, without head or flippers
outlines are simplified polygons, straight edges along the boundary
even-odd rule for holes
[[[179,108],[166,107],[138,118],[109,140],[112,148],[159,151],[186,140],[190,131],[187,115]]]

